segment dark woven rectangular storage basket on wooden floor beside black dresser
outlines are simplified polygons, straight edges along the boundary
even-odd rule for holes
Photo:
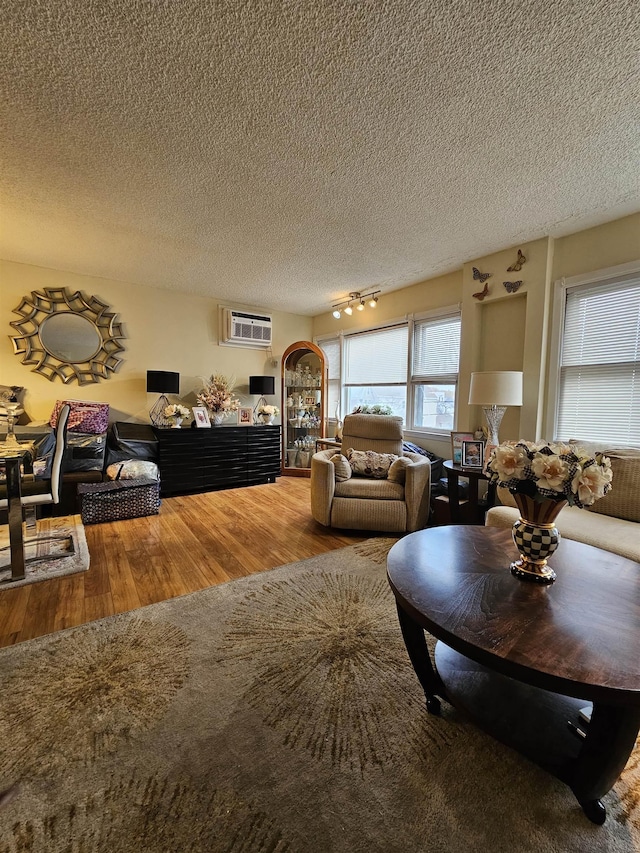
[[[160,509],[160,483],[147,478],[81,483],[78,486],[78,499],[83,524],[157,515]]]

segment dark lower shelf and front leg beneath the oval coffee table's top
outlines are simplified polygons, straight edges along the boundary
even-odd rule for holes
[[[438,686],[425,689],[431,713],[436,693],[479,728],[566,783],[586,816],[604,823],[600,798],[615,784],[635,746],[640,712],[533,687],[436,644]],[[425,685],[423,684],[423,687]],[[580,712],[590,711],[589,722]]]

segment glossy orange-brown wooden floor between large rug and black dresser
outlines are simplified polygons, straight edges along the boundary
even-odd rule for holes
[[[311,518],[309,480],[164,498],[160,514],[85,527],[91,566],[0,590],[0,647],[304,560],[372,534]]]

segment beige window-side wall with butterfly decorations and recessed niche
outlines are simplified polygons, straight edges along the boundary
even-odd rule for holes
[[[526,263],[519,272],[507,268],[521,249]],[[315,318],[313,334],[326,335],[341,330],[366,328],[445,305],[462,307],[460,353],[460,393],[457,428],[474,429],[484,423],[478,407],[467,405],[471,373],[478,370],[522,370],[524,404],[507,409],[500,429],[501,438],[541,438],[548,382],[547,353],[551,322],[553,282],[581,273],[606,269],[640,259],[640,213],[608,222],[597,228],[553,239],[544,237],[519,243],[504,251],[465,263],[460,271],[424,281],[380,296],[374,312],[343,314],[340,320],[325,314]],[[474,279],[473,268],[491,273],[489,292],[484,299],[474,297],[482,285]],[[516,293],[508,293],[505,281],[522,280]],[[552,436],[548,436],[551,438]],[[441,455],[450,455],[445,441],[419,440]]]

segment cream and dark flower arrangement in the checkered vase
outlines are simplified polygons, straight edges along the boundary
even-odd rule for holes
[[[604,497],[613,477],[611,462],[602,453],[588,453],[572,444],[523,440],[495,447],[486,473],[490,482],[513,494],[567,501],[581,509]]]

